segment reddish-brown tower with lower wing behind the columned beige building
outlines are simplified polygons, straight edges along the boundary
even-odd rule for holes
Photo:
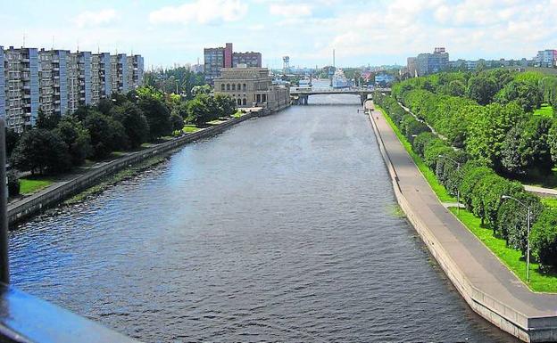
[[[261,53],[234,53],[232,43],[224,47],[204,49],[204,73],[205,80],[209,83],[220,77],[220,69],[235,68],[238,64],[248,67],[261,68]]]

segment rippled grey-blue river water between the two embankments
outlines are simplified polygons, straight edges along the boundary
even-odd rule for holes
[[[500,341],[395,195],[359,98],[310,98],[10,235],[12,282],[129,336]]]

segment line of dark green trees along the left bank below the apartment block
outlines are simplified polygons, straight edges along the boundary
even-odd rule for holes
[[[142,143],[182,133],[185,124],[204,125],[236,113],[228,95],[198,87],[190,101],[144,86],[128,94],[112,94],[96,106],[82,106],[64,116],[39,111],[36,127],[22,135],[6,133],[12,171],[11,195],[18,192],[19,171],[55,175],[82,166],[86,159],[104,159],[112,151],[134,151]]]

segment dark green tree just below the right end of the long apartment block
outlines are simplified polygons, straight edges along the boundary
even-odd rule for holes
[[[112,110],[112,117],[121,122],[131,148],[138,148],[149,139],[149,123],[143,111],[133,102],[124,102]]]

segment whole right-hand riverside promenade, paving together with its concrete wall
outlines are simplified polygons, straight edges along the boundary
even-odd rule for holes
[[[364,105],[396,199],[470,307],[503,331],[531,342],[557,341],[557,294],[528,289],[437,199],[383,114]]]

